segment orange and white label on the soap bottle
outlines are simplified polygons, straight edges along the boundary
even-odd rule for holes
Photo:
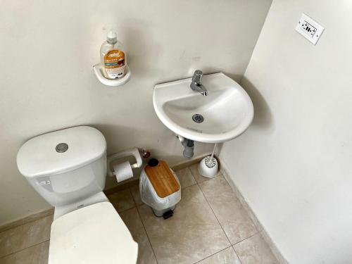
[[[118,79],[125,72],[125,53],[118,49],[108,51],[104,56],[104,67],[110,79]]]

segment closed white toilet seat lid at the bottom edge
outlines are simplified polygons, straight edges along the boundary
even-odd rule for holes
[[[96,203],[54,220],[49,264],[135,264],[138,244],[109,202]]]

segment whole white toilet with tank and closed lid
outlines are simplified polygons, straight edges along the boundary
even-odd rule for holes
[[[18,169],[55,206],[49,264],[137,263],[138,245],[108,201],[106,140],[80,126],[34,137],[20,148]]]

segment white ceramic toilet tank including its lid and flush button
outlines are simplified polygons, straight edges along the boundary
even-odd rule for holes
[[[105,187],[106,140],[87,126],[42,134],[23,144],[17,165],[46,201],[65,206]]]

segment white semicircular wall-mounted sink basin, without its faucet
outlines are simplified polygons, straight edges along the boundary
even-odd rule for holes
[[[194,92],[190,84],[188,78],[154,87],[154,109],[170,130],[196,142],[218,143],[234,139],[251,125],[251,98],[230,77],[223,73],[203,75],[208,96]],[[195,114],[202,115],[203,122],[195,122]]]

